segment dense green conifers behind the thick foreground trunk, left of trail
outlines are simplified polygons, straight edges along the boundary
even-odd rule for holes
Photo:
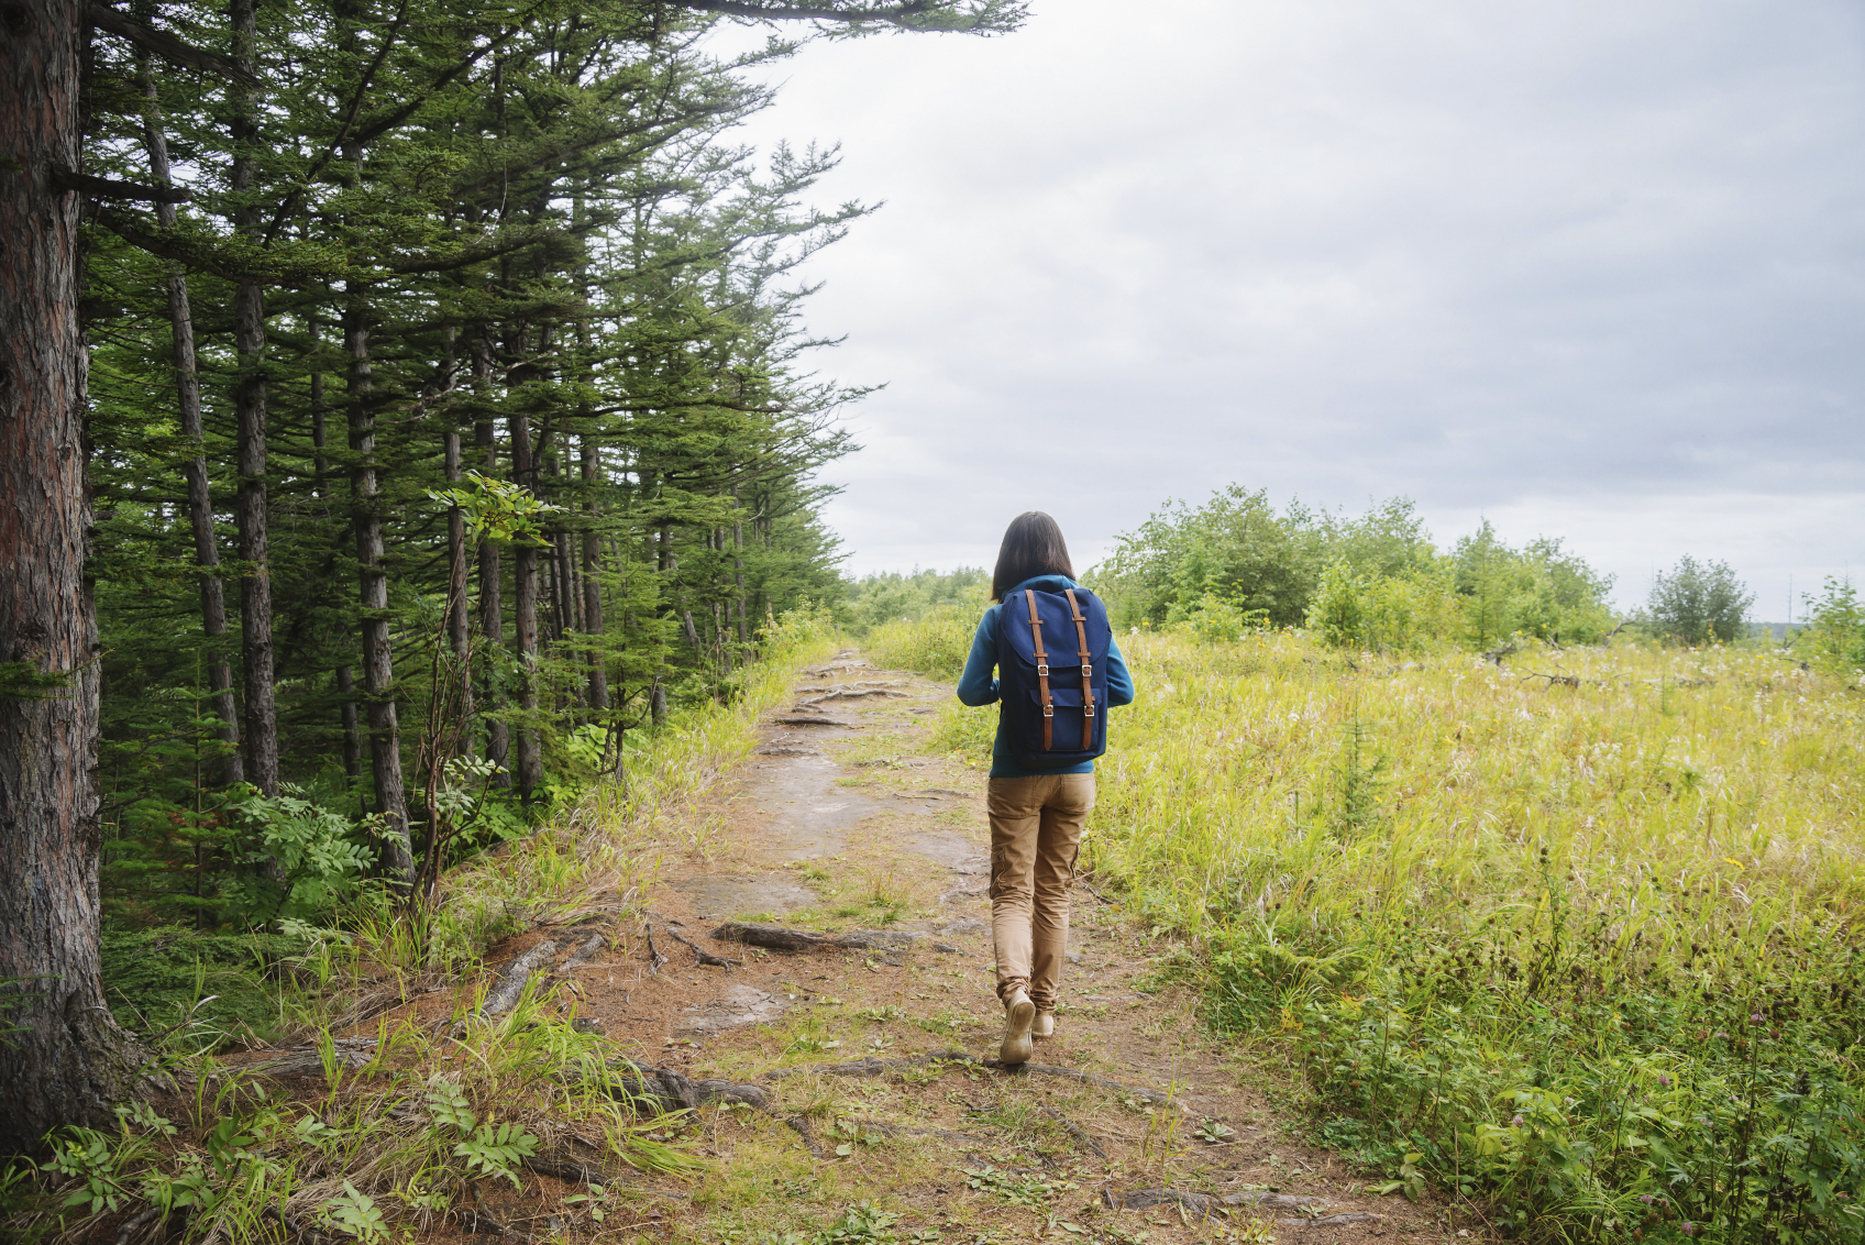
[[[91,168],[186,196],[88,230],[106,890],[295,907],[308,804],[431,883],[449,786],[515,832],[834,592],[794,269],[865,209],[681,6],[134,19],[231,65],[91,47]]]

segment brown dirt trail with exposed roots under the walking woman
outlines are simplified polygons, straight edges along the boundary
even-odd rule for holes
[[[502,1211],[513,1226],[757,1245],[873,1202],[878,1226],[843,1239],[1481,1239],[1442,1206],[1360,1195],[1365,1176],[1291,1140],[1250,1064],[1197,1021],[1195,993],[1160,986],[1140,931],[1085,887],[1057,1032],[1037,1043],[1035,1062],[1052,1071],[977,1062],[994,1058],[1002,1034],[985,775],[929,754],[949,696],[949,685],[875,670],[852,651],[806,672],[794,704],[767,715],[759,752],[684,827],[694,849],[668,860],[643,915],[498,950],[494,965],[550,937],[561,959],[591,930],[608,933],[565,974],[574,986],[558,986],[561,1004],[621,1055],[759,1084],[772,1101],[768,1112],[692,1112],[681,1135],[714,1174],[643,1182],[640,1206],[653,1210],[627,1234],[565,1217],[573,1189],[548,1180],[528,1187],[530,1206]],[[774,952],[712,939],[725,920],[906,937],[899,948]],[[673,935],[740,963],[701,965]],[[658,971],[655,952],[666,956]],[[974,1062],[910,1062],[940,1051]],[[862,1058],[886,1070],[824,1071]],[[1119,1208],[1147,1189],[1220,1202]]]

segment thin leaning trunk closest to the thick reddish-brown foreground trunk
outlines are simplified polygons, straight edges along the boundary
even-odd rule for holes
[[[142,9],[153,6],[138,6]],[[151,13],[144,13],[151,17]],[[142,78],[144,99],[149,110],[144,116],[144,144],[149,149],[149,177],[159,187],[170,185],[168,134],[157,105],[155,78],[149,73],[147,54],[136,58],[136,73]],[[162,228],[173,228],[175,205],[157,203],[157,220]],[[239,706],[233,700],[233,664],[228,661],[228,603],[226,584],[220,581],[220,545],[214,539],[214,504],[207,487],[207,452],[201,429],[201,377],[194,362],[194,310],[188,306],[188,274],[175,265],[168,271],[168,329],[175,351],[175,409],[181,416],[181,435],[194,442],[194,457],[188,459],[181,474],[188,483],[188,525],[194,530],[194,562],[201,567],[201,635],[207,636],[207,704],[220,719],[220,782],[231,786],[246,778],[244,758],[239,747]]]

